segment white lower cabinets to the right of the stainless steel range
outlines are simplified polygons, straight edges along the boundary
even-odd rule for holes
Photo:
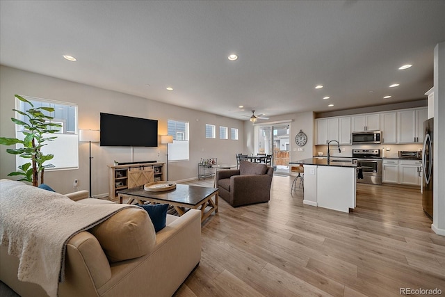
[[[383,160],[382,182],[420,186],[421,166],[422,161],[420,160]]]

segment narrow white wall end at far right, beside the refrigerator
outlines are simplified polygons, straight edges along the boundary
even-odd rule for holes
[[[445,236],[445,42],[434,49],[434,136],[433,136],[433,222],[432,230]]]

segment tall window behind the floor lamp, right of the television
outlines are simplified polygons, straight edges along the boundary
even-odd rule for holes
[[[173,136],[173,143],[168,144],[168,161],[189,159],[188,122],[167,120],[168,135]]]

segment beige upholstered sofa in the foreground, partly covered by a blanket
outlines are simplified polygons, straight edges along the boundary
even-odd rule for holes
[[[83,204],[113,203],[88,198],[88,191],[66,196]],[[201,214],[191,209],[181,217],[167,215],[166,227],[156,234],[150,224],[145,210],[129,208],[72,237],[58,296],[172,296],[200,262]],[[145,254],[120,261],[135,252]],[[37,284],[17,279],[19,261],[3,246],[0,263],[0,280],[17,294],[47,296]]]

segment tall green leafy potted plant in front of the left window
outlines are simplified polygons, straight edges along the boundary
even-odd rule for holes
[[[22,175],[22,178],[20,178],[19,180],[31,182],[33,186],[38,186],[39,172],[40,183],[43,184],[44,169],[54,167],[53,164],[44,164],[46,161],[53,159],[54,155],[43,154],[42,147],[44,145],[47,145],[45,142],[54,141],[54,139],[57,138],[57,136],[47,136],[48,134],[56,133],[57,129],[53,129],[54,127],[62,127],[62,125],[50,122],[54,118],[43,113],[43,111],[47,111],[49,113],[54,112],[54,108],[36,108],[24,97],[19,95],[15,95],[15,97],[31,106],[26,111],[18,111],[17,109],[13,109],[13,111],[19,113],[20,115],[23,115],[24,120],[11,118],[11,120],[16,125],[23,126],[24,129],[22,133],[24,134],[24,138],[19,139],[0,137],[0,145],[16,145],[17,143],[22,144],[22,147],[18,147],[15,149],[6,149],[6,152],[8,152],[9,154],[19,155],[24,159],[31,159],[31,162],[24,163],[23,165],[18,166],[19,170],[10,172],[8,176]]]

